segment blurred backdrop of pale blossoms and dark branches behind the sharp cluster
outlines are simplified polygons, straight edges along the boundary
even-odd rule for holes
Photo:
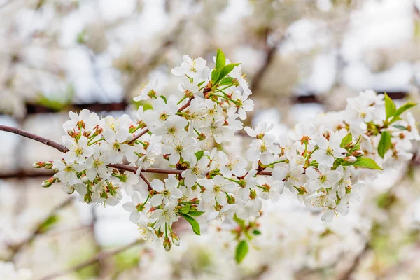
[[[170,69],[186,54],[212,66],[217,48],[251,84],[246,125],[277,134],[360,90],[420,99],[419,0],[0,0],[0,124],[60,141],[69,110],[134,116],[142,84],[179,97]],[[166,253],[137,241],[122,207],[41,188],[50,174],[31,164],[58,157],[0,132],[0,260],[34,279],[420,279],[416,157],[329,225],[283,193],[239,267],[219,228],[181,228]]]

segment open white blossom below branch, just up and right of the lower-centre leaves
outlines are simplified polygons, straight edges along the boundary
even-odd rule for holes
[[[226,193],[232,193],[235,190],[236,184],[223,178],[223,176],[214,176],[213,180],[207,180],[204,183],[206,190],[202,195],[202,200],[205,203],[221,204],[222,206],[228,204]]]

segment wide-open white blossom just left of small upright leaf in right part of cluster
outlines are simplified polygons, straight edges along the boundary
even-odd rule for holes
[[[335,158],[344,158],[347,155],[345,148],[341,148],[342,139],[347,135],[346,130],[340,130],[331,134],[328,141],[325,137],[316,137],[314,140],[319,149],[314,151],[312,158],[314,158],[320,165],[332,167]]]

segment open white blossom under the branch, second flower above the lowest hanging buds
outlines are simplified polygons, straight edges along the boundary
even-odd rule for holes
[[[153,179],[151,185],[153,190],[158,192],[151,197],[151,204],[153,207],[159,206],[162,202],[165,203],[165,205],[176,205],[178,203],[174,202],[183,197],[183,193],[178,188],[179,181],[175,177],[169,177],[169,179],[165,181],[165,184],[159,179]]]

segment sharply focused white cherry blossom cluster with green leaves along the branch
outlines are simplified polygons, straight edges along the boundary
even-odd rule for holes
[[[144,239],[160,239],[167,251],[179,245],[172,225],[180,218],[197,235],[197,217],[204,212],[208,221],[235,221],[239,262],[246,239],[258,234],[258,223],[251,220],[260,216],[263,200],[276,202],[286,187],[307,207],[324,211],[323,221],[346,215],[363,186],[356,171],[381,169],[365,155],[376,155],[376,148],[384,158],[407,160],[407,141],[419,139],[412,117],[401,118],[414,104],[396,109],[388,97],[384,102],[383,95],[368,93],[349,99],[335,126],[300,123],[288,137],[278,137],[270,133],[272,125],[260,123],[245,127],[253,138],[245,158],[223,151],[223,144],[242,130],[253,101],[241,65],[230,63],[221,50],[215,62],[209,69],[204,59],[184,56],[172,69],[183,97],[176,102],[159,95],[153,81],[134,98],[152,106],[140,106],[136,120],[70,112],[71,120],[63,125],[62,159],[34,164],[57,172],[43,186],[60,181],[66,193],[76,190],[83,202],[111,206],[129,196],[123,207],[130,221],[139,225]],[[378,113],[384,104],[386,118]],[[167,177],[149,182],[145,172]]]

